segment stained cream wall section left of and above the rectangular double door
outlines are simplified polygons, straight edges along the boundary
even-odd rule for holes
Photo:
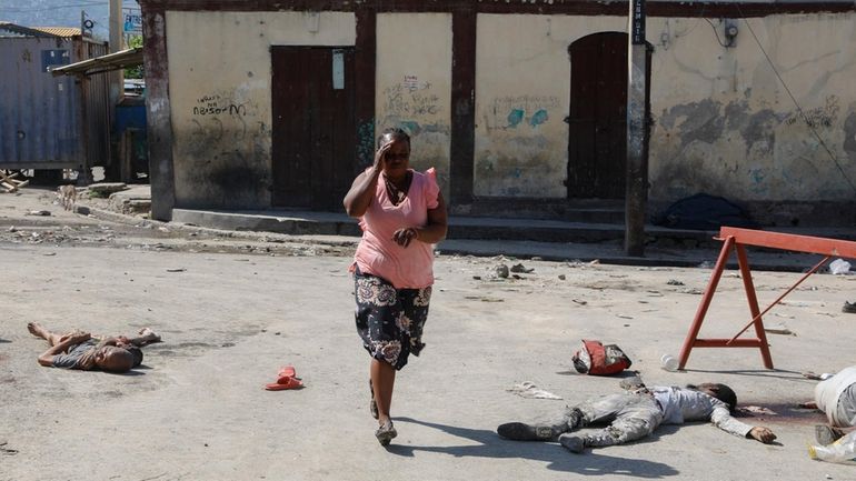
[[[352,13],[316,16],[167,12],[177,206],[270,207],[270,47],[355,43]]]

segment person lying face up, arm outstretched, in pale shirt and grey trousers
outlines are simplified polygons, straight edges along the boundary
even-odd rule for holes
[[[648,388],[639,381],[629,388],[620,394],[567,407],[561,418],[553,422],[509,422],[499,425],[497,433],[518,441],[558,440],[575,453],[581,453],[585,448],[636,441],[648,437],[660,424],[683,424],[688,421],[709,421],[723,431],[763,443],[776,439],[767,428],[752,427],[731,418],[737,397],[725,384]],[[591,434],[571,433],[578,428],[596,423],[608,424]]]

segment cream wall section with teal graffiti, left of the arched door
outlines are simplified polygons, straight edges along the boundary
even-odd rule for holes
[[[476,196],[567,196],[568,46],[626,29],[617,17],[478,16]]]

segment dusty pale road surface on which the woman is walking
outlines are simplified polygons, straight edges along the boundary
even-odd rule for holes
[[[734,349],[696,350],[687,372],[667,372],[658,360],[677,354],[709,270],[524,261],[532,272],[500,279],[496,267],[518,261],[440,255],[428,347],[396,384],[399,437],[387,450],[368,413],[349,245],[107,222],[44,194],[0,197],[0,480],[856,479],[852,467],[808,459],[822,418],[793,408],[814,389],[800,372],[856,360],[856,314],[840,312],[852,277],[817,275],[766,317],[796,333],[769,334],[777,370]],[[37,210],[51,220],[26,216]],[[758,273],[762,303],[795,275]],[[730,335],[748,320],[741,289],[734,273],[723,279],[705,334]],[[150,327],[165,342],[146,348],[132,375],[48,369],[29,321]],[[649,384],[730,384],[740,404],[775,412],[743,420],[780,442],[707,424],[584,455],[499,439],[500,422],[618,391],[617,379],[573,372],[583,338],[618,343]],[[283,364],[306,388],[262,390]],[[508,391],[524,381],[564,400]]]

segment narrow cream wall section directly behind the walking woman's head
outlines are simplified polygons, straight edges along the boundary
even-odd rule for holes
[[[436,167],[448,192],[451,14],[378,14],[376,72],[375,131],[401,127],[410,132],[411,167]]]

